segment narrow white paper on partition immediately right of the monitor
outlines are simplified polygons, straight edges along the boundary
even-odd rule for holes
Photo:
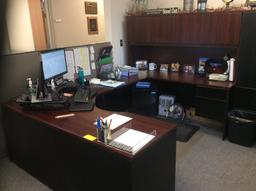
[[[66,55],[66,62],[67,62],[67,69],[68,73],[65,74],[63,77],[68,80],[74,81],[74,74],[76,72],[75,70],[75,60],[74,60],[74,52],[73,51],[65,51]]]

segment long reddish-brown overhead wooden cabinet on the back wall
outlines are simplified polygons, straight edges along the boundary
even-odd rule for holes
[[[239,44],[241,12],[128,16],[128,42]]]

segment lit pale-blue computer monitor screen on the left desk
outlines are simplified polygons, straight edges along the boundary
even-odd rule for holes
[[[64,49],[41,52],[44,80],[49,80],[67,73]]]

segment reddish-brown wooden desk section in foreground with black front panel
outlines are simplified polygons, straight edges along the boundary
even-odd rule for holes
[[[174,191],[175,125],[132,117],[132,128],[156,130],[156,138],[132,156],[97,141],[95,119],[113,112],[95,108],[74,117],[55,119],[62,111],[22,111],[9,102],[3,119],[10,159],[53,190],[60,191]]]

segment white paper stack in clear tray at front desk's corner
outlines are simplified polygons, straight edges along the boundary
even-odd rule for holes
[[[111,141],[109,145],[134,155],[154,137],[155,136],[151,134],[129,129]]]

